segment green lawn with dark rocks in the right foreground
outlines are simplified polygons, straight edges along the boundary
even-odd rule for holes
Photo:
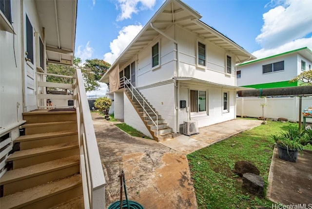
[[[268,175],[274,141],[270,137],[286,130],[293,123],[268,121],[229,139],[197,150],[187,156],[194,180],[199,209],[255,209],[255,206],[272,207],[266,198],[258,198],[242,189],[242,180],[234,174],[234,164],[245,160],[253,163],[268,185]],[[311,149],[312,146],[306,146]],[[265,188],[266,190],[266,188]]]

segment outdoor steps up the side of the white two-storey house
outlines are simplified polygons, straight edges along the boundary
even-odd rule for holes
[[[161,117],[161,115],[158,115],[158,112],[153,108],[153,106],[146,100],[146,98],[137,90],[133,91],[133,95],[135,97],[132,97],[132,92],[129,89],[125,89],[125,93],[131,102],[131,104],[134,106],[134,108],[137,110],[137,114],[140,116],[141,120],[153,136],[153,138],[156,141],[164,141],[167,139],[171,139],[175,137],[177,134],[173,132],[172,128],[168,126],[168,124],[165,122],[165,120]],[[154,112],[156,112],[158,116],[158,132],[157,132],[157,126],[154,124],[157,122],[157,117],[154,114],[154,112],[149,109],[149,107],[146,107],[147,113],[150,115],[150,117],[147,114],[144,114],[144,110],[140,104],[143,104],[143,99],[147,104],[149,104]],[[133,99],[132,99],[133,98]],[[137,99],[136,99],[137,98]],[[147,105],[146,105],[147,106]],[[154,122],[153,122],[154,121]],[[158,134],[157,134],[158,133]]]

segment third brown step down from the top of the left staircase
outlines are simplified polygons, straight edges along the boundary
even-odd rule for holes
[[[78,141],[78,131],[66,130],[20,136],[15,143],[20,143],[20,150],[25,150],[76,141]]]

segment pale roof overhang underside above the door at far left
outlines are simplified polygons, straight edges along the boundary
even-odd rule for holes
[[[77,0],[36,0],[47,62],[74,63]]]

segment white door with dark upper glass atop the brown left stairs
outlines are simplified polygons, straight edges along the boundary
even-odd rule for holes
[[[24,24],[24,111],[36,109],[35,37],[31,19],[25,14]]]

